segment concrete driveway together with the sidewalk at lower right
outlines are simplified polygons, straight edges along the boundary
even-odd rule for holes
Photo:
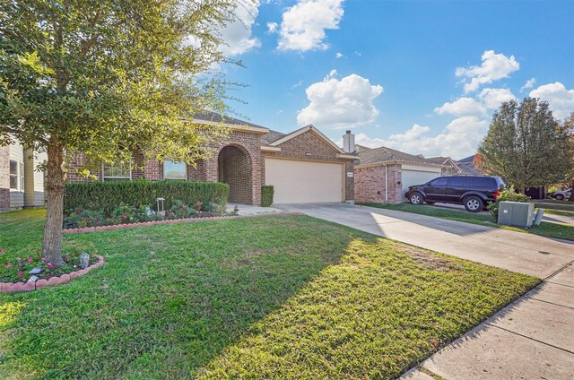
[[[574,379],[574,242],[344,203],[274,206],[544,280],[402,378]]]

